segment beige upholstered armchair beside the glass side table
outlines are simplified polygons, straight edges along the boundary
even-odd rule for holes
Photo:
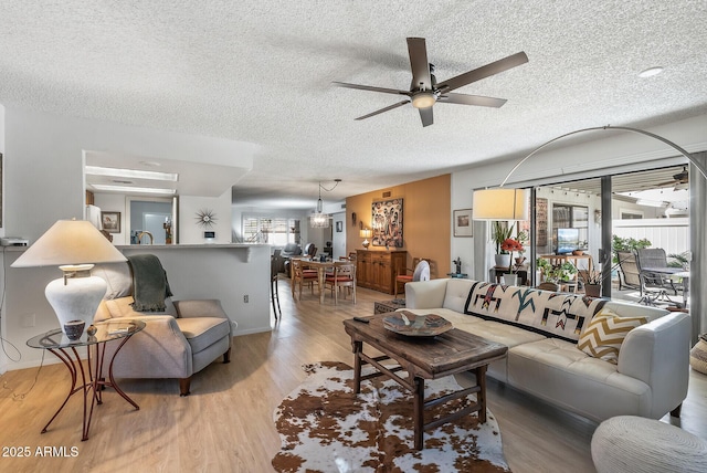
[[[128,263],[96,266],[93,274],[108,283],[95,320],[137,318],[145,329],[135,334],[115,357],[115,378],[177,378],[180,396],[188,396],[191,377],[223,356],[230,361],[231,320],[215,299],[171,301],[163,312],[135,312]],[[118,344],[107,344],[105,360]],[[107,372],[107,366],[104,366]]]

